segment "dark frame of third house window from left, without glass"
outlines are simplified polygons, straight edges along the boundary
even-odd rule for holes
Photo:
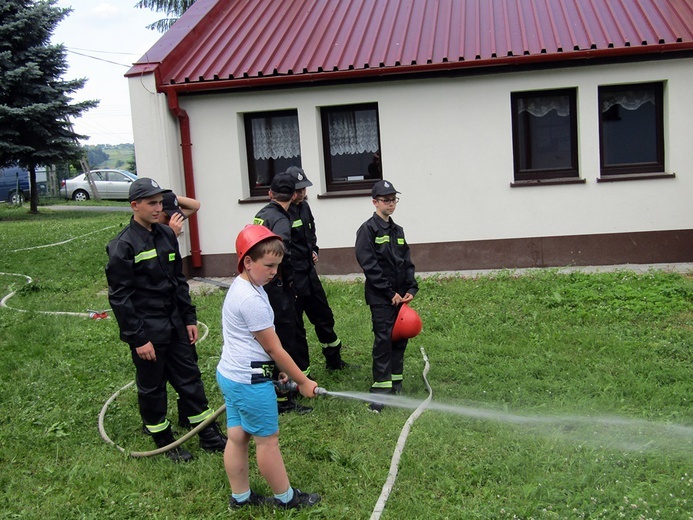
[[[523,169],[520,164],[520,125],[523,121],[520,120],[518,113],[518,102],[520,100],[536,97],[555,97],[568,96],[570,116],[568,124],[570,125],[570,166],[566,168],[542,168],[542,169]],[[541,181],[548,179],[579,179],[580,167],[578,163],[578,127],[577,127],[577,88],[563,88],[553,90],[533,90],[526,92],[512,92],[511,110],[512,110],[512,138],[513,138],[513,170],[514,180],[516,182],[526,181]],[[526,123],[525,123],[526,124]],[[529,143],[528,143],[529,144]],[[529,153],[529,146],[525,147],[525,154]]]

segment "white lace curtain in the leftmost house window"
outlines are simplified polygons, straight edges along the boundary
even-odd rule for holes
[[[251,123],[255,159],[288,159],[301,155],[297,117],[255,118]]]

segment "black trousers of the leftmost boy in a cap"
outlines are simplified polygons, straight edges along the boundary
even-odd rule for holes
[[[167,382],[178,393],[181,409],[189,414],[188,417],[209,410],[197,366],[197,352],[187,337],[181,339],[174,333],[170,343],[154,345],[156,361],[140,359],[135,349],[131,350],[137,370],[137,400],[145,425],[155,427],[166,422]]]

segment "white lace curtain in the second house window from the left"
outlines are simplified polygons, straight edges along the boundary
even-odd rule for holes
[[[378,151],[378,119],[375,110],[333,112],[329,114],[328,122],[331,155]]]

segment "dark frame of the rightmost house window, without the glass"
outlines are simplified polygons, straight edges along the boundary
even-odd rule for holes
[[[623,91],[633,88],[652,87],[655,95],[655,140],[656,140],[656,155],[655,162],[640,162],[619,164],[617,166],[605,166],[604,154],[606,152],[606,144],[604,142],[604,114],[601,111],[602,97],[605,93],[614,91]],[[648,82],[648,83],[630,83],[620,85],[602,85],[598,89],[598,110],[599,110],[599,172],[602,178],[610,178],[613,176],[633,176],[651,175],[664,173],[664,83]],[[625,178],[625,177],[624,177]],[[631,177],[632,178],[632,177]]]

